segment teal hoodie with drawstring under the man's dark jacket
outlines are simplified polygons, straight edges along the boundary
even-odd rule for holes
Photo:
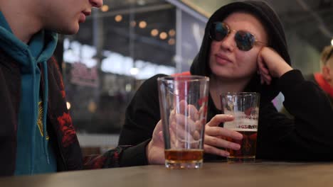
[[[27,45],[16,38],[0,11],[0,47],[21,67],[16,175],[56,171],[56,158],[48,142],[46,131],[48,81],[45,81],[43,100],[41,100],[39,90],[41,71],[38,64],[43,65],[44,78],[48,80],[47,60],[56,50],[57,39],[56,33],[41,30],[33,35]],[[38,107],[38,103],[41,106]]]

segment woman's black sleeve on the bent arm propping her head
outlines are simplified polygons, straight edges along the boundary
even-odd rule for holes
[[[272,103],[260,108],[258,154],[263,159],[333,160],[333,111],[316,84],[298,70],[282,75],[284,106],[295,119],[278,113]]]

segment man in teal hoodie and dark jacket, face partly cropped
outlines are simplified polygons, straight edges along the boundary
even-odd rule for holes
[[[102,0],[0,0],[0,176],[163,162],[160,137],[82,158],[52,55],[57,33],[77,33],[100,6]]]

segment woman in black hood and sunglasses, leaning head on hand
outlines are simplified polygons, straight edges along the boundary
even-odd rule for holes
[[[218,125],[233,120],[221,114],[219,94],[260,93],[259,159],[319,161],[333,159],[333,111],[319,87],[305,81],[290,66],[285,33],[270,6],[262,1],[240,1],[219,8],[206,24],[191,74],[210,78],[205,134],[206,159],[227,157],[221,148],[240,145],[220,137],[243,138]],[[160,122],[157,78],[142,84],[126,111],[120,145],[136,145],[152,137]],[[295,120],[278,113],[271,102],[279,92]],[[211,154],[211,155],[209,155]],[[213,154],[213,155],[212,155]]]

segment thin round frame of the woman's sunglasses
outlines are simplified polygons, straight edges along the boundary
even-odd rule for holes
[[[262,45],[264,45],[264,46],[267,46],[267,45],[268,45],[268,44],[265,43],[265,42],[260,42],[260,41],[258,41],[258,40],[255,38],[255,35],[253,35],[252,33],[248,32],[248,31],[244,31],[244,30],[233,30],[233,29],[231,29],[231,28],[228,26],[228,24],[226,24],[226,23],[224,23],[224,22],[221,22],[221,21],[217,21],[217,22],[214,22],[214,23],[211,24],[211,27],[209,28],[209,38],[211,38],[211,40],[218,41],[218,42],[221,42],[221,41],[222,41],[222,40],[216,40],[216,39],[214,39],[213,36],[211,35],[212,29],[214,29],[213,32],[216,32],[216,24],[218,24],[218,23],[221,23],[223,26],[225,26],[225,27],[227,28],[227,34],[226,34],[226,36],[225,36],[222,40],[226,39],[226,38],[228,37],[228,35],[230,35],[231,32],[233,32],[233,31],[236,32],[235,37],[234,37],[233,39],[234,39],[235,42],[236,42],[236,45],[237,45],[238,50],[241,50],[241,51],[249,51],[249,50],[252,50],[252,48],[253,48],[256,44],[258,44],[258,43],[260,43],[260,44],[262,44]],[[238,45],[238,41],[237,41],[237,39],[236,39],[236,35],[237,35],[237,33],[239,34],[239,32],[243,32],[243,33],[250,34],[251,37],[253,37],[254,42],[253,42],[253,45],[250,46],[250,49],[248,49],[248,50],[244,50],[244,49],[245,49],[244,47],[240,47],[240,46]]]

